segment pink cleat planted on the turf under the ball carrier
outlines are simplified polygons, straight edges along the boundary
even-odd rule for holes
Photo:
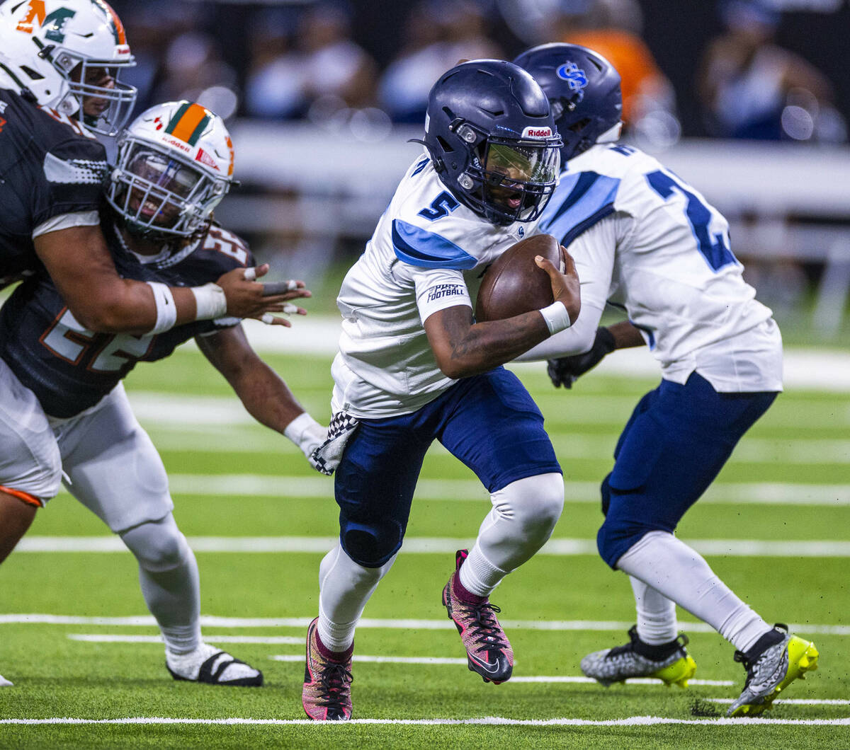
[[[343,661],[331,659],[320,644],[319,618],[307,629],[307,663],[301,702],[314,721],[348,721],[351,719],[351,652]]]

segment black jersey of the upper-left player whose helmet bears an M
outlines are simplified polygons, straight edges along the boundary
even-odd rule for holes
[[[106,174],[104,146],[77,121],[0,88],[0,286],[41,268],[35,228],[97,210]]]

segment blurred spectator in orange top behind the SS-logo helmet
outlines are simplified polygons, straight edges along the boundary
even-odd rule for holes
[[[674,144],[681,135],[676,95],[640,37],[643,13],[636,0],[562,0],[551,33],[581,44],[614,65],[622,79],[626,132],[646,149]]]

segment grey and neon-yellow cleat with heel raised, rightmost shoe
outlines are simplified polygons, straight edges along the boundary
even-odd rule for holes
[[[765,640],[767,643],[763,644]],[[805,673],[818,668],[818,656],[812,642],[788,634],[787,625],[776,623],[750,651],[735,651],[735,661],[746,669],[746,680],[744,690],[726,715],[757,716],[769,711],[780,692],[798,677],[805,680]]]

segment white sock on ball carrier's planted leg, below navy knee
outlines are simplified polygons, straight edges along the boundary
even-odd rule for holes
[[[363,567],[337,544],[319,566],[319,638],[330,651],[343,652],[354,643],[354,629],[377,584],[393,567],[396,555],[382,567]]]

